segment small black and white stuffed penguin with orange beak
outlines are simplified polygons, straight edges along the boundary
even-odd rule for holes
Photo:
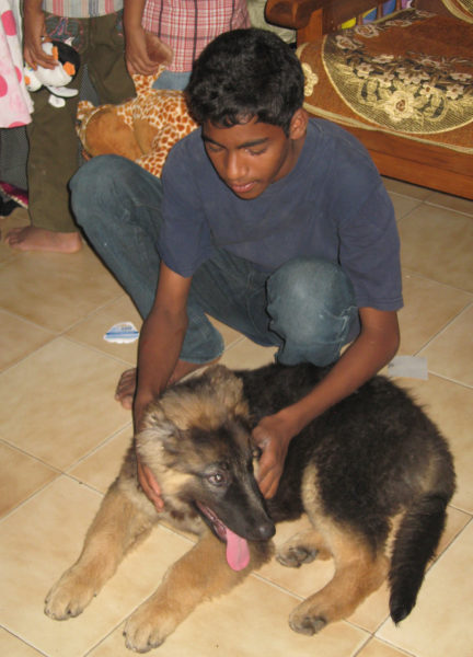
[[[67,84],[76,78],[79,71],[80,55],[67,42],[44,41],[42,47],[47,55],[53,55],[58,64],[54,69],[46,69],[42,66],[33,69],[25,64],[26,89],[34,92],[46,87],[50,92],[49,104],[54,107],[64,107],[65,99],[70,99],[79,93],[77,89],[68,89]]]

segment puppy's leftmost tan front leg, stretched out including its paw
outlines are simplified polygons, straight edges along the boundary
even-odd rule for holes
[[[115,573],[125,553],[151,527],[152,514],[134,504],[117,480],[86,533],[79,560],[46,596],[45,613],[56,620],[79,615]]]

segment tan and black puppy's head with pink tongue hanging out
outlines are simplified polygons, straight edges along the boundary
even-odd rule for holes
[[[164,506],[196,507],[227,541],[229,564],[244,567],[246,539],[267,540],[275,527],[253,474],[249,408],[242,381],[222,366],[209,368],[164,393],[136,437]]]

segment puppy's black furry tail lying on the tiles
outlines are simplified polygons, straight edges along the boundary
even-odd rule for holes
[[[390,569],[390,612],[400,623],[413,610],[425,570],[446,523],[450,495],[428,494],[417,499],[397,530]]]

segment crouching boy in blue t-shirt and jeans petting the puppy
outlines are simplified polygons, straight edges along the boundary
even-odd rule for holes
[[[222,34],[193,68],[186,93],[200,128],[174,147],[162,184],[113,155],[72,181],[79,223],[146,318],[136,426],[153,396],[222,353],[206,312],[276,345],[282,364],[334,364],[309,395],[254,429],[266,497],[291,438],[377,373],[400,339],[392,204],[358,141],[309,120],[303,84],[275,34]],[[126,404],[134,392],[135,371],[117,396]],[[162,505],[154,483],[140,481]]]

